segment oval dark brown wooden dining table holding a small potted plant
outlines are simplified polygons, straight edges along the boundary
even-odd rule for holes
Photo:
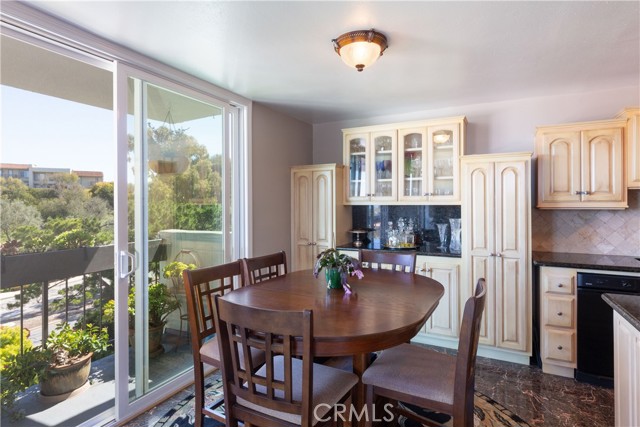
[[[322,273],[316,278],[313,270],[289,272],[223,298],[261,309],[312,310],[314,355],[351,356],[353,372],[361,378],[370,354],[409,342],[444,294],[439,282],[414,273],[365,269],[361,279],[349,277],[350,293],[327,289]],[[353,405],[360,410],[364,402],[365,387],[359,381]]]

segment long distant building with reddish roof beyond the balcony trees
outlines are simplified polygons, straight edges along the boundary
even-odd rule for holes
[[[30,188],[51,188],[54,185],[53,176],[61,173],[77,175],[80,185],[84,188],[91,188],[104,180],[104,174],[97,171],[72,171],[67,168],[41,168],[19,163],[0,163],[0,176],[17,178]]]

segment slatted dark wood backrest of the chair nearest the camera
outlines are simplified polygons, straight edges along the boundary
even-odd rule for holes
[[[238,398],[276,411],[309,418],[303,425],[311,425],[310,375],[313,363],[313,316],[310,310],[276,311],[238,305],[216,297],[216,323],[219,325],[218,343],[222,358],[225,403],[227,408],[242,411],[235,405]],[[237,345],[231,345],[231,343]],[[302,399],[294,397],[294,346],[302,344]],[[232,351],[233,348],[241,351]],[[265,351],[265,365],[257,369],[251,365],[252,349]],[[255,351],[255,350],[254,350]],[[242,353],[242,355],[240,354]],[[240,357],[244,357],[241,369]],[[283,369],[276,369],[278,363]],[[229,394],[227,394],[229,393]],[[232,409],[233,410],[233,409]]]

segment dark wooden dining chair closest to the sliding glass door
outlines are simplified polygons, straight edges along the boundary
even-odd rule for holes
[[[182,273],[187,299],[187,313],[191,330],[191,351],[193,353],[193,373],[196,398],[196,426],[204,425],[204,417],[209,416],[225,422],[224,417],[214,412],[224,402],[220,399],[209,407],[204,406],[205,364],[220,368],[220,348],[215,339],[214,296],[224,295],[243,283],[242,263],[240,261],[215,267],[185,270]],[[264,352],[251,353],[252,363],[258,366],[264,363]]]

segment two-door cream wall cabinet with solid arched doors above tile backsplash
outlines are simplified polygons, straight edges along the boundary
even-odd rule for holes
[[[627,208],[623,136],[626,120],[539,127],[540,209]]]

